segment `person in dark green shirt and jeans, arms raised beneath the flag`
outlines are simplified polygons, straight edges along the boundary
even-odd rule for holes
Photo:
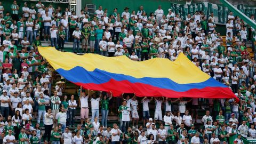
[[[101,97],[102,97],[102,92],[100,92]],[[101,119],[101,125],[103,125],[103,127],[107,127],[108,126],[108,105],[109,105],[109,100],[112,99],[112,92],[110,92],[110,97],[107,98],[107,95],[104,94],[103,99],[101,99],[101,115],[102,115],[102,119]]]

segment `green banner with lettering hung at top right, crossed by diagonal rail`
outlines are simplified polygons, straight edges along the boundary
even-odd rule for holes
[[[243,4],[235,5],[235,7],[237,7],[239,11],[243,12],[249,18],[251,14],[256,15],[256,7],[244,6]],[[225,24],[230,12],[230,10],[225,6],[207,2],[185,5],[171,3],[171,9],[175,13],[180,13],[180,17],[184,20],[186,19],[188,13],[192,16],[196,11],[203,11],[208,18],[213,12],[215,23],[217,24]],[[236,13],[234,12],[233,15],[235,16]]]

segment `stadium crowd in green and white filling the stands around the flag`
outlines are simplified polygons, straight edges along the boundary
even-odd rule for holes
[[[215,30],[217,20],[213,13],[206,17],[196,11],[181,18],[171,9],[164,12],[161,5],[147,14],[143,6],[138,11],[125,7],[122,13],[117,11],[122,7],[110,12],[99,6],[95,13],[84,7],[81,13],[75,13],[51,4],[45,6],[41,1],[36,5],[25,2],[23,7],[16,1],[9,7],[2,4],[0,140],[3,143],[222,144],[242,143],[241,137],[256,137],[256,63],[246,47],[250,40],[254,49],[256,33],[238,16],[234,17],[233,12],[227,18],[224,44]],[[251,19],[254,20],[254,15]],[[154,58],[174,61],[184,53],[199,69],[229,86],[240,101],[164,97],[153,100],[135,94],[112,98],[111,92],[82,87],[78,95],[67,97],[62,94],[64,82],[52,87],[54,70],[37,49],[42,45],[41,40],[51,41],[51,46],[60,51],[64,51],[65,43],[73,42],[73,52],[81,52],[82,43],[83,53],[126,55],[134,61]],[[117,105],[110,106],[113,102]],[[149,111],[150,102],[155,102],[154,114]],[[78,107],[81,124],[75,125]],[[205,111],[202,119],[198,118],[199,110]],[[108,125],[109,112],[118,114],[119,124]],[[33,119],[37,119],[36,124]],[[143,124],[138,126],[140,119]]]

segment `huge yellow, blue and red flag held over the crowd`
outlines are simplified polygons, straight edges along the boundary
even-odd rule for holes
[[[226,85],[203,73],[183,53],[174,62],[161,58],[138,62],[126,56],[76,55],[53,47],[39,47],[39,52],[68,81],[85,89],[111,91],[114,96],[135,93],[139,97],[237,99]]]

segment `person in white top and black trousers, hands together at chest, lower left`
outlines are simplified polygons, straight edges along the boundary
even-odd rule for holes
[[[44,130],[44,137],[43,137],[44,141],[47,137],[47,141],[50,142],[51,130],[52,130],[52,126],[53,126],[53,118],[54,118],[54,115],[52,114],[52,109],[49,108],[47,110],[47,113],[44,114],[44,119],[45,119],[45,122],[44,122],[45,130]]]

